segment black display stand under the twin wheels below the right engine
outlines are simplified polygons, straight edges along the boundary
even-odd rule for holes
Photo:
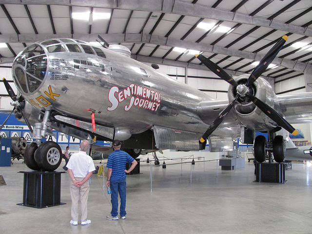
[[[286,183],[285,163],[255,163],[256,180],[254,182]]]

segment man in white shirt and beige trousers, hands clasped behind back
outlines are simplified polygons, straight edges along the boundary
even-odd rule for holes
[[[92,172],[96,170],[92,157],[86,154],[89,148],[89,142],[83,140],[80,143],[80,151],[73,154],[68,163],[68,175],[71,178],[70,195],[72,198],[72,220],[70,223],[78,225],[78,202],[81,203],[81,225],[90,224],[91,220],[87,219],[88,215],[88,196],[90,190],[89,178]]]

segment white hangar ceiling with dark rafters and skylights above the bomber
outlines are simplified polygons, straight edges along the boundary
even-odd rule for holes
[[[139,61],[206,69],[195,50],[239,75],[251,73],[287,35],[276,66],[263,76],[312,74],[312,0],[0,0],[0,6],[1,63],[41,39],[95,42],[100,35]],[[108,14],[98,19],[99,13]]]

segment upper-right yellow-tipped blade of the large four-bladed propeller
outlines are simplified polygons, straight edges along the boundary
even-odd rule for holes
[[[254,68],[252,74],[249,76],[246,82],[247,87],[250,87],[254,83],[254,81],[257,78],[259,78],[260,75],[268,68],[268,66],[276,57],[278,52],[282,49],[287,39],[288,37],[284,35],[281,39],[279,39],[279,41],[276,42],[273,48],[261,59],[259,64]]]

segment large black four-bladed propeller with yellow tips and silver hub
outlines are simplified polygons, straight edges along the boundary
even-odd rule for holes
[[[226,115],[230,112],[232,107],[238,98],[247,97],[254,102],[254,104],[269,118],[271,118],[274,122],[276,122],[279,126],[283,127],[293,135],[297,135],[297,130],[295,130],[290,123],[288,123],[282,116],[280,116],[276,111],[274,111],[269,105],[257,99],[253,95],[249,93],[249,88],[252,86],[254,81],[260,77],[260,75],[268,68],[269,64],[276,57],[277,53],[281,50],[283,45],[285,44],[288,37],[285,35],[281,39],[279,39],[273,48],[261,59],[259,64],[254,68],[252,74],[247,79],[245,84],[237,84],[237,82],[231,78],[222,68],[216,65],[213,61],[207,59],[201,54],[195,55],[197,59],[199,59],[206,67],[208,67],[213,73],[215,73],[218,77],[227,81],[231,85],[236,87],[237,95],[232,100],[232,102],[215,118],[213,123],[209,126],[207,131],[201,137],[200,142],[204,142],[219,126],[219,124],[223,121]]]

